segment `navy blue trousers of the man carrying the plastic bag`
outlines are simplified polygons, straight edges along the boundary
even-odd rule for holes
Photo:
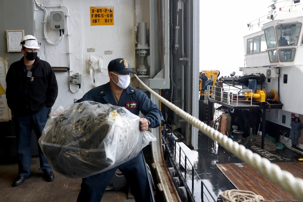
[[[77,202],[100,202],[108,183],[111,181],[112,176],[115,174],[117,169],[124,174],[136,201],[152,201],[144,166],[140,151],[135,158],[124,164],[114,167],[108,171],[82,178],[81,190],[78,195]],[[149,173],[148,177],[151,182]],[[153,193],[152,196],[154,197]]]

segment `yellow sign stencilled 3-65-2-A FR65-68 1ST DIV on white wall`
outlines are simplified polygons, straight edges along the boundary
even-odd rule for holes
[[[91,26],[114,25],[114,7],[89,7],[91,12]]]

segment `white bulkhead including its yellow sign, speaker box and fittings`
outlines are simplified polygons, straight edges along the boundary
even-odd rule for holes
[[[134,1],[36,2],[35,36],[42,42],[38,55],[55,67],[55,71],[56,68],[70,69],[70,72],[56,72],[59,94],[53,108],[73,103],[89,89],[108,82],[107,65],[112,59],[125,58],[135,70]],[[38,6],[41,3],[43,10]],[[140,21],[144,18],[142,15],[148,19],[145,4],[137,5]],[[60,28],[53,26],[60,23],[65,25],[61,37]],[[80,89],[79,81],[69,82],[70,76],[76,73],[82,75]]]

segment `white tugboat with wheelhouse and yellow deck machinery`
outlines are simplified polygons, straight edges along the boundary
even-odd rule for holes
[[[300,57],[303,11],[299,9],[300,5],[298,1],[273,1],[261,31],[255,31],[254,22],[251,22],[249,29],[254,33],[243,38],[245,67],[240,68],[243,75],[222,76],[215,91],[218,94],[222,90],[224,98],[210,96],[212,101],[235,109],[237,113],[233,120],[241,121],[233,124],[239,125],[238,129],[244,132],[244,136],[249,136],[250,128],[253,128],[254,134],[261,131],[262,135],[268,134],[288,148],[291,148],[290,141],[285,142],[282,137],[290,130],[295,117],[303,118],[301,94],[297,93],[301,91],[299,83],[303,78]],[[220,81],[225,84],[224,88],[221,88]],[[211,94],[213,89],[209,90]],[[248,124],[256,113],[264,121]],[[302,149],[303,138],[300,137],[296,150],[301,153]]]

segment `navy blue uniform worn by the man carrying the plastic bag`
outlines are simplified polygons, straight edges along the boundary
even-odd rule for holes
[[[145,93],[140,90],[136,90],[131,86],[128,86],[123,91],[118,105],[114,95],[112,94],[109,82],[91,89],[83,96],[83,98],[76,102],[82,101],[96,101],[102,104],[112,104],[125,107],[136,115],[139,115],[139,112],[141,111],[145,116],[144,118],[151,121],[151,124],[148,127],[155,128],[161,123],[162,114],[157,105],[154,104]],[[114,167],[108,171],[82,178],[81,190],[77,201],[100,202],[117,169],[119,169],[127,179],[136,201],[152,201],[144,166],[145,164],[140,152],[135,158],[124,164]]]

